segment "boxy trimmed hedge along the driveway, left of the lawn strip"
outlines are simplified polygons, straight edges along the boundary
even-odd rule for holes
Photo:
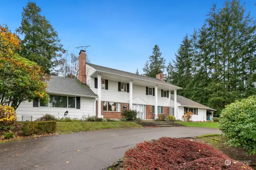
[[[54,133],[56,131],[56,121],[36,121],[24,122],[22,133],[24,135]]]

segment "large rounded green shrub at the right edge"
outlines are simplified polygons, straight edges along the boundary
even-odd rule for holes
[[[229,144],[242,146],[256,154],[256,96],[236,101],[222,110],[219,129],[230,138]]]

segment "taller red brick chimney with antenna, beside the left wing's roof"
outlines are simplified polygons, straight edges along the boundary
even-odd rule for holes
[[[86,84],[86,53],[84,50],[81,50],[79,53],[78,67],[78,79],[82,84]]]

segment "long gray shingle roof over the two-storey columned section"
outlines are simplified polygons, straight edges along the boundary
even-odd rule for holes
[[[157,84],[161,84],[161,85],[172,86],[172,87],[175,87],[177,89],[182,89],[181,87],[178,87],[176,85],[172,85],[170,83],[167,83],[165,81],[161,81],[159,79],[155,79],[155,78],[152,78],[152,77],[147,77],[147,76],[144,76],[144,75],[138,75],[138,74],[135,74],[135,73],[130,73],[130,72],[126,72],[126,71],[121,71],[121,70],[117,70],[117,69],[103,67],[103,66],[100,66],[100,65],[92,64],[92,63],[86,63],[86,64],[90,65],[92,68],[96,69],[97,71],[102,71],[102,72],[105,72],[105,73],[120,75],[120,76],[123,76],[123,77],[129,77],[131,79],[138,79],[138,80],[148,81],[148,82],[157,83]]]

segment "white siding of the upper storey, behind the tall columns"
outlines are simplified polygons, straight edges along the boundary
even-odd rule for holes
[[[94,88],[94,78],[90,80],[90,88],[94,93],[98,93],[97,89]],[[100,88],[101,85],[98,85]],[[144,101],[146,101],[146,105],[155,105],[155,97],[152,95],[146,95],[146,86],[133,85],[133,98],[140,97]],[[120,103],[128,103],[130,100],[129,94],[127,92],[118,91],[118,81],[108,80],[108,90],[101,90],[101,100],[102,101],[112,101],[112,102],[120,102]],[[140,104],[140,103],[137,103]],[[158,105],[159,106],[167,106],[173,107],[174,101],[170,100],[167,97],[161,97],[161,89],[158,88]]]

